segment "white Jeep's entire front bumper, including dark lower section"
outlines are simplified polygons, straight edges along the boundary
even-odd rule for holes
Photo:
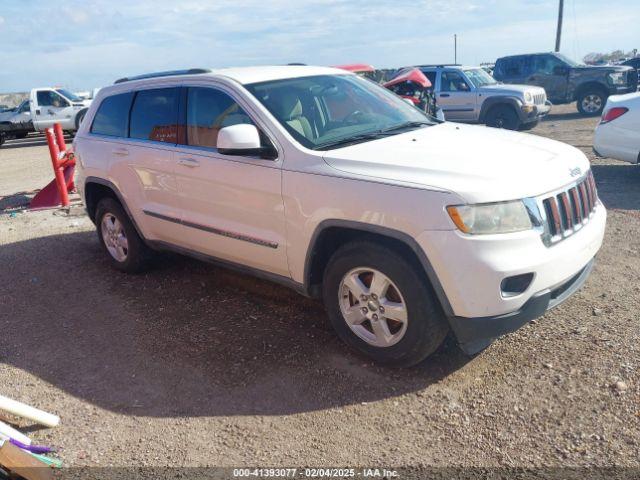
[[[504,235],[446,230],[419,235],[418,244],[429,258],[437,290],[446,297],[446,313],[463,348],[477,351],[575,292],[602,245],[606,217],[604,205],[598,202],[589,223],[552,246],[546,246],[534,230]],[[505,295],[502,281],[523,274],[533,274],[526,290]]]

